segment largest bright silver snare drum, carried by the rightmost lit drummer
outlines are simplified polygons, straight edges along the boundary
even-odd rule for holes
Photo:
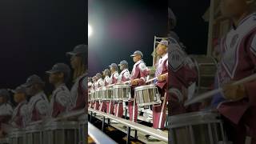
[[[138,86],[134,91],[138,106],[161,104],[158,88],[154,85]]]

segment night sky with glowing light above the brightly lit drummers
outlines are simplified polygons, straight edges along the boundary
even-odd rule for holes
[[[167,0],[89,0],[89,24],[93,34],[89,38],[90,76],[123,59],[134,65],[130,54],[144,53],[144,62],[152,66],[151,53],[154,35],[166,37]]]

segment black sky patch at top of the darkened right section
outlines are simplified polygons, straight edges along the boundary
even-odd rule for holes
[[[169,6],[178,20],[174,31],[186,46],[188,54],[206,54],[208,22],[202,15],[210,6],[210,0],[169,0]]]

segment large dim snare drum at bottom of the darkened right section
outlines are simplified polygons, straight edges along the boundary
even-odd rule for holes
[[[199,111],[170,117],[172,144],[217,144],[226,142],[217,112]]]

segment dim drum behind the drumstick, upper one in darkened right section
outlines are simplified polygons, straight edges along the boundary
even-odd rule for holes
[[[217,62],[213,57],[206,55],[191,55],[190,58],[198,73],[196,93],[205,93],[214,84]]]

